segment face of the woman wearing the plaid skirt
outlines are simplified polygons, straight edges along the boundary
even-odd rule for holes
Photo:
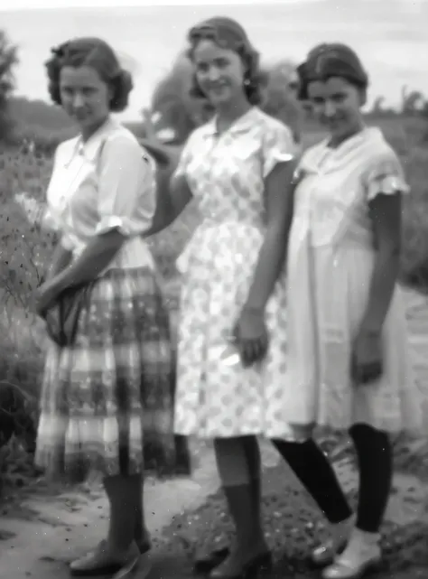
[[[111,90],[89,66],[60,70],[61,105],[82,130],[101,125],[108,116]]]

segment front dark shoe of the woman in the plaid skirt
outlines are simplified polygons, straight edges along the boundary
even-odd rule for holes
[[[73,561],[70,564],[70,574],[75,577],[118,574],[127,565],[135,563],[135,559],[140,556],[140,551],[135,544],[129,547],[128,552],[120,557],[120,560],[111,556],[106,547],[107,542],[101,541],[95,550]]]

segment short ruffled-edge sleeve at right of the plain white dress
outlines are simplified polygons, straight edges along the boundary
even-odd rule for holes
[[[391,148],[375,154],[363,175],[366,199],[372,201],[379,193],[393,195],[410,191],[403,167]]]

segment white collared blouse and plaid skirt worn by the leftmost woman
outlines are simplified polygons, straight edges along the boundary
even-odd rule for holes
[[[90,284],[75,343],[49,343],[35,461],[72,481],[141,472],[146,437],[166,455],[173,444],[169,316],[141,237],[154,215],[154,163],[109,118],[87,142],[59,145],[47,206],[72,259],[108,230],[126,239]]]

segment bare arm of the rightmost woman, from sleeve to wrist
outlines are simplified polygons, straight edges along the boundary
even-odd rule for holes
[[[379,194],[369,203],[375,233],[376,258],[370,282],[368,306],[362,324],[380,332],[395,290],[401,242],[401,193]]]

